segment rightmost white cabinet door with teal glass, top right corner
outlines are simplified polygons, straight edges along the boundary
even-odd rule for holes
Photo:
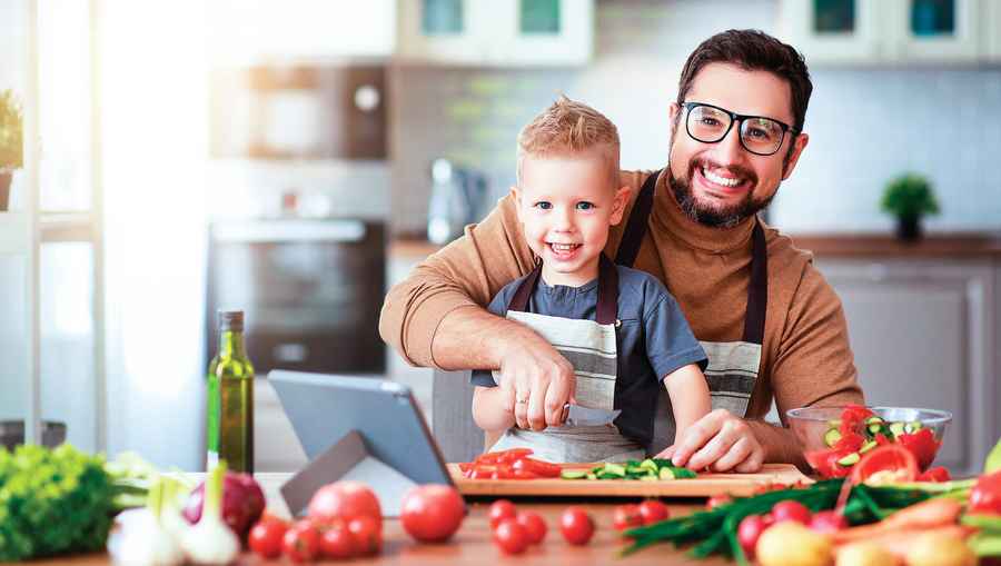
[[[981,0],[892,0],[885,7],[889,60],[962,62],[980,54]]]

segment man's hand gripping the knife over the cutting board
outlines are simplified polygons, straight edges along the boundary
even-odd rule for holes
[[[574,367],[556,348],[531,331],[506,348],[500,358],[500,386],[515,391],[514,415],[519,428],[544,430],[566,420],[564,406],[575,404]]]

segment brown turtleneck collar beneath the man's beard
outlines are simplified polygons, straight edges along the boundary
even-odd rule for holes
[[[670,173],[671,168],[665,167],[657,178],[651,216],[658,230],[666,230],[688,246],[712,254],[726,254],[749,246],[751,232],[754,229],[753,220],[756,216],[742,220],[732,228],[713,228],[701,225],[682,211],[671,187],[667,186]]]

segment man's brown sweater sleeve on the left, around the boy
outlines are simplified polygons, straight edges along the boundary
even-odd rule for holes
[[[460,238],[389,289],[379,335],[410,365],[438,367],[432,345],[445,316],[462,307],[483,308],[533,261],[508,193],[482,222],[467,226]]]

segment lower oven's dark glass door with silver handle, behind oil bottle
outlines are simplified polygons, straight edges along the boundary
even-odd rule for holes
[[[232,309],[245,312],[247,355],[259,376],[279,368],[385,371],[383,224],[227,221],[209,235],[208,359],[218,348],[216,311]]]

